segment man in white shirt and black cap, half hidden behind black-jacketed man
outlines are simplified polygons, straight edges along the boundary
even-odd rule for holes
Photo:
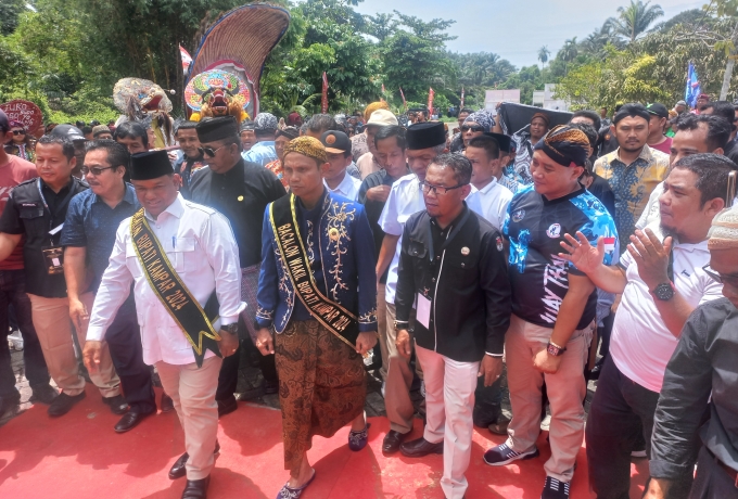
[[[378,113],[378,112],[376,112]],[[412,171],[392,184],[379,225],[384,231],[384,240],[377,263],[377,276],[382,276],[390,268],[385,286],[386,302],[386,336],[385,348],[387,375],[384,388],[384,405],[390,420],[390,432],[384,437],[382,451],[394,453],[412,431],[415,408],[410,399],[412,370],[409,361],[397,353],[395,342],[395,289],[397,286],[397,267],[399,263],[400,236],[405,222],[411,215],[425,209],[420,182],[425,180],[425,171],[435,156],[446,151],[446,132],[442,123],[419,123],[411,125],[406,132],[407,163]],[[422,379],[419,363],[416,363],[418,375]]]

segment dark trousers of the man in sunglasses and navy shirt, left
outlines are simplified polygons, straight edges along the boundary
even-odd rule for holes
[[[143,363],[141,330],[132,296],[123,304],[105,332],[111,360],[120,379],[123,394],[131,411],[148,413],[156,410],[151,369]]]

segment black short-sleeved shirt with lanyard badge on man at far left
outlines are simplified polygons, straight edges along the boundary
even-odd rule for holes
[[[39,193],[39,182],[43,199]],[[64,223],[69,201],[75,194],[87,189],[86,183],[72,177],[69,183],[59,192],[52,191],[40,179],[20,183],[11,192],[2,217],[0,217],[0,232],[26,236],[23,246],[26,293],[44,298],[66,297],[64,274],[49,274],[41,251],[46,246],[59,244],[62,231],[58,230],[54,234],[50,234],[49,231]]]

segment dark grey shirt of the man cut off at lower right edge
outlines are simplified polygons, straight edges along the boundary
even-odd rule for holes
[[[666,367],[653,420],[651,476],[691,473],[699,439],[738,470],[737,378],[738,310],[720,298],[692,312]],[[710,420],[702,424],[711,395]]]

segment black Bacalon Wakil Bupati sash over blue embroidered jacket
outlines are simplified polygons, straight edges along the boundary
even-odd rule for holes
[[[294,194],[271,203],[269,219],[295,294],[318,322],[355,348],[359,334],[356,316],[323,296],[313,279],[307,252],[300,236]]]

